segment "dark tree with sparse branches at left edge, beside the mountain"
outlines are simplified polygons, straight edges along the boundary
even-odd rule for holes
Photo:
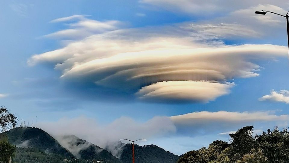
[[[15,114],[9,113],[9,110],[4,106],[0,106],[0,133],[14,128],[17,124],[17,117]],[[14,156],[16,147],[12,146],[4,134],[0,136],[0,163],[9,162]]]

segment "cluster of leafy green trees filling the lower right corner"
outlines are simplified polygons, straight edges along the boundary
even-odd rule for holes
[[[187,152],[177,163],[288,163],[289,132],[277,127],[252,135],[253,126],[230,134],[231,142],[214,141],[208,148]]]

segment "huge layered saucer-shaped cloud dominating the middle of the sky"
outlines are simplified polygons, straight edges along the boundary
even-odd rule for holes
[[[97,22],[101,27],[109,27],[99,33],[97,24],[81,28],[75,25],[94,21],[84,16],[73,17],[77,18],[79,22],[74,22],[71,29],[82,37],[63,48],[36,54],[28,64],[51,62],[65,81],[93,83],[95,87],[135,94],[144,101],[213,101],[230,93],[234,86],[230,80],[259,76],[255,59],[286,54],[283,46],[228,46],[216,41],[226,36],[222,29],[206,34],[193,29],[190,23],[120,29],[112,23],[116,21]],[[207,25],[198,26],[202,27]],[[85,28],[89,28],[89,36],[83,32]],[[244,26],[240,28],[246,30]],[[64,35],[61,32],[60,37]]]

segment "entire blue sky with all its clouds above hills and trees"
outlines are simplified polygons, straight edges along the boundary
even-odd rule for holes
[[[0,2],[0,105],[53,136],[174,154],[288,127],[285,0]],[[126,143],[126,142],[124,142]]]

